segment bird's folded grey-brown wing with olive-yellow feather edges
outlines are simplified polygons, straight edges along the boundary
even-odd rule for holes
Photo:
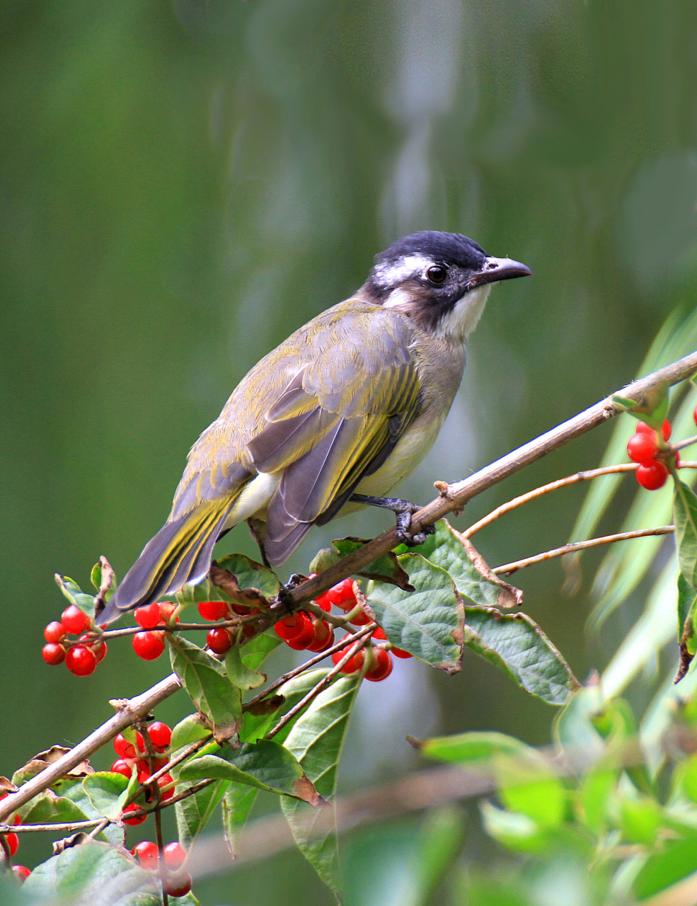
[[[315,323],[295,375],[246,445],[257,471],[282,473],[267,512],[272,564],[336,515],[414,418],[420,382],[411,342],[405,319],[376,306]]]

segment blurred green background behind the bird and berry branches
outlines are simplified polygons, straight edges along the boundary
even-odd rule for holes
[[[42,628],[63,604],[53,573],[85,586],[106,554],[123,575],[235,383],[350,294],[397,236],[461,231],[534,271],[492,294],[463,389],[405,496],[425,502],[434,479],[465,477],[631,380],[697,288],[697,7],[5,0],[3,20],[0,771],[11,774],[166,669],[128,643],[91,679],[45,666]],[[455,525],[593,467],[608,436],[492,488]],[[482,553],[494,565],[563,543],[581,499],[569,490],[501,520]],[[332,536],[388,524],[368,513],[317,530],[289,571]],[[221,552],[254,554],[245,532]],[[588,582],[568,600],[559,564],[516,581],[579,677],[604,665],[622,612],[587,637]],[[454,678],[422,666],[402,661],[361,691],[345,789],[418,766],[406,733],[549,738],[553,709],[483,661],[466,657]],[[185,707],[176,697],[158,716]],[[26,862],[47,847],[23,843]],[[198,893],[325,901],[299,857],[277,864],[290,883],[264,863],[235,874],[234,894],[229,879]]]

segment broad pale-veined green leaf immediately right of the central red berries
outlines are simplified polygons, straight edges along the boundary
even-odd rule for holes
[[[420,554],[403,554],[399,563],[415,589],[372,583],[368,605],[387,638],[425,663],[454,673],[463,653],[463,612],[451,577]]]

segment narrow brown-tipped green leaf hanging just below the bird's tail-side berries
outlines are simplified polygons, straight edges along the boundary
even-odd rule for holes
[[[180,636],[169,640],[172,670],[196,708],[211,721],[218,742],[242,724],[242,693],[223,673],[219,661]]]

